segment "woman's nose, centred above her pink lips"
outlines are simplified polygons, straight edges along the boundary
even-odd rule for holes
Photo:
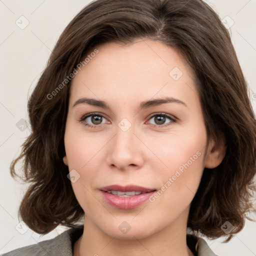
[[[123,130],[116,127],[116,133],[108,144],[107,164],[119,170],[138,169],[143,165],[143,146],[134,133],[134,128]]]

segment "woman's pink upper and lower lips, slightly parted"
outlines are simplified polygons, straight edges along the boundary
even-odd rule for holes
[[[128,197],[121,197],[108,193],[107,190],[115,191],[141,191],[144,194],[137,194]],[[136,186],[136,185],[110,185],[100,188],[100,192],[107,203],[115,208],[120,209],[133,209],[143,204],[155,192],[156,189]]]

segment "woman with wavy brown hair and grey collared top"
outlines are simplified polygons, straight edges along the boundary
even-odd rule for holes
[[[201,0],[96,0],[28,102],[22,220],[4,255],[215,255],[251,208],[256,125],[228,31]],[[83,219],[84,224],[78,225]],[[190,231],[189,231],[190,230]]]

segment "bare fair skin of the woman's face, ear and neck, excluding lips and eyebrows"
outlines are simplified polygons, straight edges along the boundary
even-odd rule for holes
[[[63,161],[80,175],[72,187],[85,212],[74,255],[192,255],[186,246],[190,203],[204,167],[216,167],[224,157],[224,148],[213,139],[207,144],[192,70],[159,41],[111,42],[97,49],[72,80],[64,135]],[[178,80],[169,75],[174,67],[183,73]],[[73,107],[85,96],[106,101],[111,110],[86,103]],[[186,106],[172,102],[138,110],[141,101],[166,96]],[[104,116],[100,124],[93,116],[79,121],[91,112]],[[154,117],[159,113],[176,117],[177,122],[167,117],[157,122]],[[123,118],[131,124],[126,131],[118,126]],[[85,126],[86,121],[95,128]],[[159,127],[162,123],[168,125]],[[161,189],[197,151],[200,156],[154,202],[118,209],[99,191],[110,184]],[[123,221],[130,226],[127,233],[118,228]]]

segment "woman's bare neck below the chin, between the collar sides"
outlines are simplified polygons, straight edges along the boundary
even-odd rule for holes
[[[186,245],[186,225],[178,221],[143,238],[120,239],[107,235],[84,217],[83,235],[74,245],[74,256],[193,256]]]

